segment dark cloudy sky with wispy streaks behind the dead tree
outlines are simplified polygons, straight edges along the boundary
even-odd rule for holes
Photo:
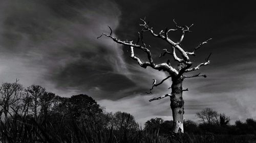
[[[165,27],[194,24],[181,47],[193,50],[212,38],[192,57],[195,65],[210,56],[210,64],[195,73],[207,78],[185,79],[185,119],[197,121],[195,113],[210,107],[226,113],[231,123],[256,119],[256,9],[253,1],[106,1],[106,0],[0,0],[0,81],[38,84],[59,96],[87,94],[106,111],[125,111],[138,123],[151,118],[172,120],[168,98],[148,102],[170,93],[171,81],[154,88],[152,79],[168,76],[150,67],[141,68],[130,52],[111,39],[137,40],[140,18],[146,17],[155,32]],[[169,34],[178,41],[180,32]],[[156,63],[166,42],[144,34]],[[146,61],[145,53],[135,50]],[[179,56],[179,54],[178,54]],[[193,74],[193,73],[191,73]]]

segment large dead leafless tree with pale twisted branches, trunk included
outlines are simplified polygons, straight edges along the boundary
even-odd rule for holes
[[[129,46],[130,47],[130,51],[131,51],[131,55],[130,57],[135,60],[139,66],[141,66],[142,68],[147,68],[147,67],[151,67],[155,70],[158,71],[164,71],[167,72],[167,74],[169,74],[169,76],[167,76],[166,78],[164,78],[162,81],[160,81],[159,83],[156,83],[156,80],[154,80],[153,82],[153,86],[150,89],[150,92],[148,93],[152,93],[152,90],[154,87],[157,87],[158,85],[162,84],[165,80],[172,78],[172,86],[169,89],[172,89],[172,93],[170,94],[166,94],[157,98],[153,98],[150,101],[153,100],[159,100],[165,97],[170,97],[170,107],[172,108],[172,112],[173,112],[173,120],[174,120],[174,133],[183,133],[183,114],[184,114],[184,100],[182,98],[182,92],[183,91],[188,91],[183,90],[182,89],[182,82],[185,78],[193,78],[193,77],[206,77],[206,75],[202,75],[200,73],[195,74],[195,75],[184,75],[185,73],[191,72],[191,71],[196,71],[199,70],[202,66],[208,65],[210,63],[209,61],[209,56],[208,58],[205,59],[205,62],[192,67],[192,65],[194,64],[193,61],[191,61],[189,59],[189,56],[196,55],[196,51],[201,48],[204,44],[206,44],[210,39],[200,43],[197,47],[195,47],[193,49],[193,51],[188,52],[185,51],[182,47],[181,47],[181,42],[184,39],[184,36],[186,33],[191,32],[190,31],[190,27],[193,26],[193,24],[191,24],[190,26],[179,26],[175,20],[175,27],[174,29],[168,29],[165,28],[165,30],[160,31],[159,33],[155,33],[153,31],[153,28],[150,27],[148,25],[148,22],[146,22],[145,18],[141,19],[142,24],[139,24],[140,26],[142,26],[142,30],[141,33],[138,32],[138,40],[137,42],[133,42],[133,41],[122,41],[117,39],[116,37],[114,37],[112,35],[112,29],[110,28],[110,34],[105,34],[102,33],[101,36],[106,36],[108,38],[111,38],[113,41],[115,41],[116,43],[125,45],[125,46]],[[182,33],[181,38],[179,41],[175,42],[173,40],[171,40],[168,37],[168,34],[170,32],[173,31],[180,31]],[[148,49],[148,47],[150,47],[149,45],[145,44],[144,40],[143,40],[143,33],[144,32],[148,32],[150,33],[153,37],[159,38],[164,40],[165,42],[167,42],[170,45],[170,50],[164,49],[164,52],[161,53],[159,55],[159,58],[161,58],[162,56],[165,56],[167,54],[173,56],[174,60],[177,61],[179,63],[178,67],[174,68],[171,63],[169,62],[169,60],[166,63],[161,63],[161,64],[156,64],[152,58],[152,53],[151,51]],[[98,38],[100,38],[101,36],[99,36]],[[139,42],[141,41],[141,44],[139,44]],[[147,54],[147,59],[148,62],[142,62],[134,53],[134,49],[139,49],[144,51]],[[181,58],[178,57],[178,55],[176,54],[176,51],[178,51],[181,54]]]

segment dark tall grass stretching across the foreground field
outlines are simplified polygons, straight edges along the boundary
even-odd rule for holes
[[[167,143],[167,142],[255,142],[254,135],[159,134],[159,130],[117,130],[104,128],[90,121],[35,122],[33,119],[10,119],[1,122],[0,142],[49,142],[49,143]]]

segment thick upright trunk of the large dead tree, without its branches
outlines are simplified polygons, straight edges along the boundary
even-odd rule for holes
[[[174,133],[183,133],[184,100],[182,98],[182,76],[173,78],[172,97],[170,98],[170,108],[173,111]]]

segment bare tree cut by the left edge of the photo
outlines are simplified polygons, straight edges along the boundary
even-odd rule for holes
[[[5,121],[8,119],[8,114],[12,115],[10,108],[14,109],[15,106],[17,106],[19,100],[22,99],[23,86],[17,82],[17,79],[13,83],[5,82],[0,87],[0,119],[2,119],[2,112],[4,112]]]

